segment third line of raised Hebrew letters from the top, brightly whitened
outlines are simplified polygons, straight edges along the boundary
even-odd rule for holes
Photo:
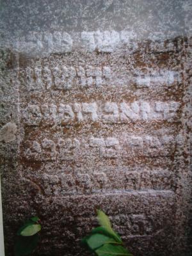
[[[28,125],[39,125],[42,120],[49,125],[65,125],[74,122],[127,123],[132,121],[172,120],[177,118],[179,102],[74,102],[57,105],[29,104],[24,111]],[[77,121],[75,121],[77,119]]]

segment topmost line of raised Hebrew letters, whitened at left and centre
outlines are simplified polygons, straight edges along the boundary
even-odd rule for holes
[[[35,53],[60,53],[60,52],[72,52],[77,45],[81,45],[84,50],[93,52],[95,50],[103,53],[115,52],[119,48],[129,47],[131,51],[135,51],[139,47],[139,43],[136,42],[136,34],[130,30],[106,30],[106,31],[82,31],[81,33],[67,33],[65,31],[54,31],[50,33],[45,31],[31,32],[27,36],[21,36],[19,44],[15,44],[15,47],[20,52],[32,51]],[[168,38],[166,42],[157,41],[156,44],[151,42],[152,51],[157,52],[170,52],[175,51],[175,44]]]

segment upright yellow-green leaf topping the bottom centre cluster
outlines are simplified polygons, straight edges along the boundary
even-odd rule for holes
[[[99,224],[106,229],[106,231],[115,238],[118,243],[122,243],[122,239],[111,227],[109,217],[101,210],[97,210],[97,219]]]

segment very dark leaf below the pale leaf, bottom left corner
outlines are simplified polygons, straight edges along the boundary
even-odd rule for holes
[[[35,234],[35,236],[24,237],[19,236],[17,237],[17,241],[14,247],[14,255],[15,256],[25,256],[31,254],[33,250],[35,250],[38,244],[39,236]]]

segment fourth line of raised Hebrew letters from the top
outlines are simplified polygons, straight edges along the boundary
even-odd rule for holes
[[[63,160],[79,161],[79,156],[110,159],[130,156],[170,156],[175,148],[175,138],[161,132],[159,136],[118,134],[116,137],[47,138],[27,141],[24,157],[35,161]]]

